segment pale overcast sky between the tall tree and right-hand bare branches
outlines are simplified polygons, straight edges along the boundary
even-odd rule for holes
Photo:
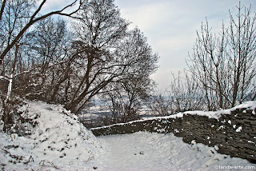
[[[256,9],[256,0],[242,0]],[[144,33],[154,52],[160,56],[158,71],[152,75],[158,89],[170,85],[171,73],[186,68],[188,53],[202,22],[220,30],[222,20],[228,22],[229,10],[236,12],[238,0],[115,0],[122,17],[133,22]]]

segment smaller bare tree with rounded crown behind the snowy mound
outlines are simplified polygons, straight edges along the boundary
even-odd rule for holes
[[[30,56],[34,61],[31,67],[38,70],[34,95],[44,101],[55,101],[60,86],[71,72],[70,62],[74,61],[69,52],[72,36],[66,28],[66,21],[61,18],[56,21],[46,18],[38,22],[28,34],[30,36]]]

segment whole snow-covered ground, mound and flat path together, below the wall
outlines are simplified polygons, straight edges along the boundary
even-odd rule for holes
[[[22,106],[27,135],[0,133],[2,170],[215,170],[256,165],[202,144],[188,145],[172,133],[139,132],[94,137],[61,105],[32,101]],[[230,169],[227,169],[230,170]],[[255,169],[246,169],[255,170]]]

